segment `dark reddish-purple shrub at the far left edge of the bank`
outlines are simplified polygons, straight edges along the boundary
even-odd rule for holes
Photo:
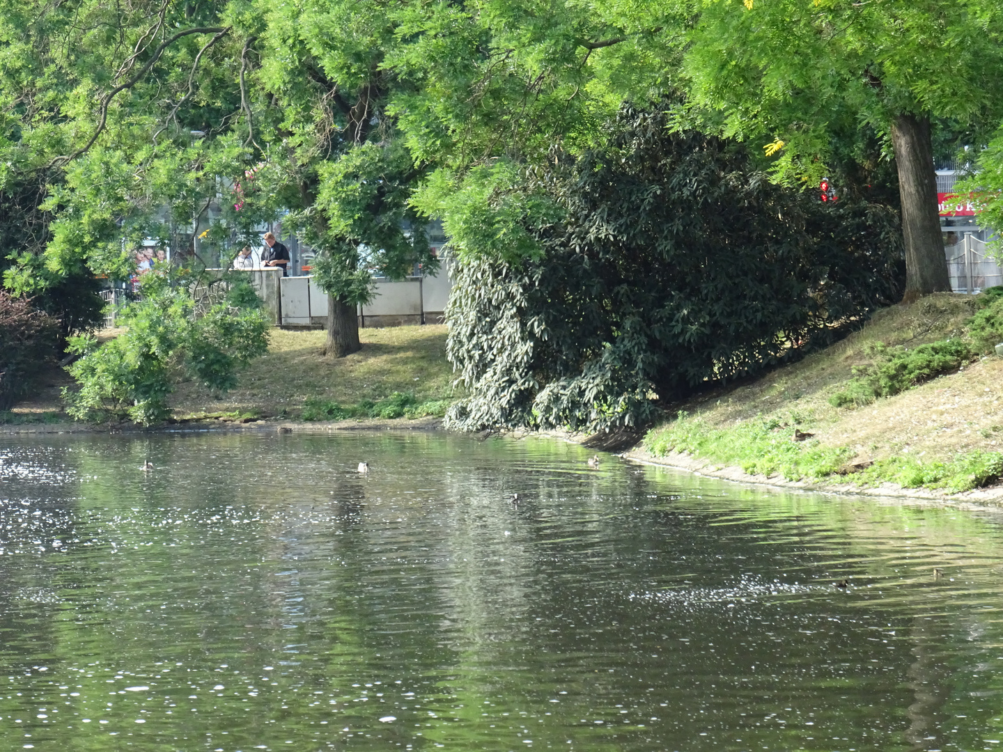
[[[57,322],[30,300],[0,289],[0,410],[9,410],[53,359],[57,332]]]

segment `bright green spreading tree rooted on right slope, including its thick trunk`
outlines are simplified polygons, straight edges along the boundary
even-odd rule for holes
[[[572,151],[601,143],[599,123],[620,101],[681,92],[670,127],[767,147],[772,177],[786,185],[817,184],[848,139],[877,131],[899,173],[906,298],[949,289],[931,135],[947,126],[979,140],[999,123],[998,3],[663,0],[530,11],[490,2],[476,12],[421,6],[412,17],[421,33],[391,60],[422,82],[401,120],[408,143],[422,156],[437,150],[449,173],[437,184],[482,209],[482,180],[463,180],[469,169],[498,157],[540,161],[548,138]],[[423,202],[448,224],[447,204],[459,202]]]

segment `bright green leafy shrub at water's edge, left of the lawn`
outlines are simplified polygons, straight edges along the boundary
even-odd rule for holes
[[[103,345],[92,336],[71,338],[71,349],[83,357],[68,369],[78,388],[63,390],[70,415],[149,425],[170,417],[166,398],[181,378],[216,391],[236,386],[238,368],[268,349],[268,321],[260,305],[248,306],[252,299],[241,285],[198,316],[193,284],[180,273],[147,274],[141,300],[118,314],[123,334]]]

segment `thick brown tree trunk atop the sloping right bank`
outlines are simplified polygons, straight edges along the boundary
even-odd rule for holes
[[[951,292],[937,212],[930,118],[902,114],[892,123],[895,161],[899,167],[902,231],[906,240],[907,303],[923,295]]]

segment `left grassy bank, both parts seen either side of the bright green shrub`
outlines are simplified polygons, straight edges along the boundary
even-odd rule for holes
[[[268,353],[240,373],[237,389],[213,394],[195,382],[179,385],[171,395],[175,417],[239,422],[417,418],[442,415],[454,398],[444,326],[362,329],[362,350],[346,358],[323,355],[325,336],[272,330]],[[53,368],[29,400],[0,413],[0,424],[68,420],[59,389],[70,383]]]

